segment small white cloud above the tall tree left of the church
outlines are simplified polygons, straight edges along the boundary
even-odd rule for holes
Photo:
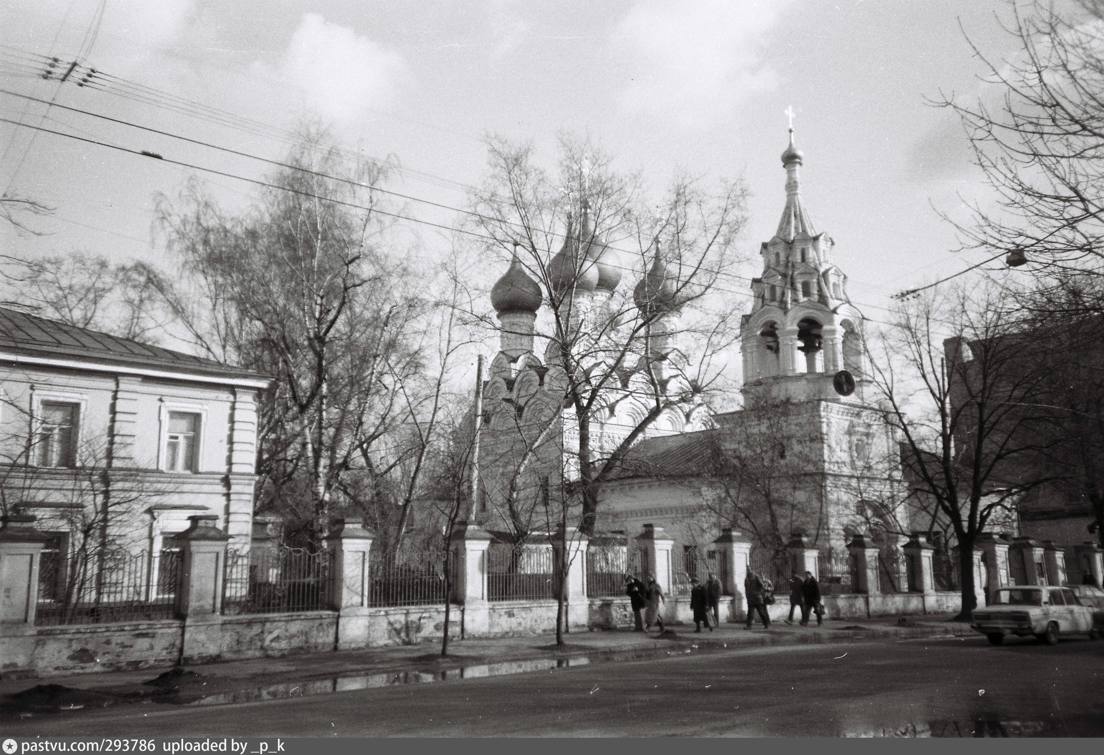
[[[319,115],[344,126],[370,109],[385,109],[407,71],[397,52],[306,13],[284,51],[278,75]]]

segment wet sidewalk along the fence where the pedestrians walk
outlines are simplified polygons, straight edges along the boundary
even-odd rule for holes
[[[102,702],[99,698],[103,695],[96,695],[96,692],[114,695],[113,700],[104,698],[108,704],[150,699],[162,702],[191,702],[198,698],[216,704],[283,697],[282,690],[301,689],[304,691],[299,693],[302,694],[384,683],[434,681],[458,678],[465,676],[464,671],[468,671],[467,676],[495,676],[538,668],[564,667],[572,665],[573,661],[593,664],[638,660],[694,650],[975,634],[968,625],[951,622],[951,614],[909,616],[906,624],[900,626],[896,616],[862,621],[828,621],[822,627],[802,627],[796,624],[789,626],[776,622],[769,629],[763,629],[756,624],[751,630],[744,629],[742,624],[723,624],[713,632],[701,634],[696,634],[692,625],[669,626],[669,629],[676,633],[675,637],[660,637],[655,632],[641,634],[627,629],[572,632],[564,637],[565,647],[555,646],[554,634],[464,639],[449,643],[450,655],[447,658],[440,657],[438,640],[413,646],[188,666],[183,675],[179,671],[169,675],[160,686],[142,682],[157,678],[166,670],[162,668],[82,673],[40,680],[0,678],[0,697],[7,698],[38,684],[59,684],[72,690],[93,692],[92,695],[85,695],[88,697],[86,702],[82,702],[83,699],[66,698],[68,702],[63,702],[62,707],[67,707],[72,702],[99,707]],[[373,679],[368,680],[369,677]],[[357,683],[355,679],[364,681]],[[254,693],[251,694],[251,690]],[[55,692],[61,693],[60,690]],[[73,692],[68,694],[72,697]],[[224,700],[220,699],[224,697]],[[51,703],[45,704],[49,708]],[[10,702],[8,705],[2,705],[0,702],[0,707],[12,710]],[[54,704],[55,710],[56,708]]]

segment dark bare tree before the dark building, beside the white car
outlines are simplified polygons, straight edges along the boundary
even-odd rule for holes
[[[902,302],[870,377],[901,438],[911,492],[954,530],[957,618],[968,621],[977,537],[1048,482],[1030,464],[1051,442],[1038,410],[1045,376],[1029,368],[1032,338],[996,287],[934,291]]]

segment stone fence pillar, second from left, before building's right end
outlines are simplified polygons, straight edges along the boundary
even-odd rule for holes
[[[188,529],[173,536],[180,546],[177,613],[184,619],[180,662],[204,662],[222,654],[222,578],[230,536],[214,514],[188,517]]]

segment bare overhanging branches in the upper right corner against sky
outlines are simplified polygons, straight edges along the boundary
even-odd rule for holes
[[[1104,4],[1007,3],[1016,53],[994,61],[970,42],[999,91],[991,103],[941,95],[962,119],[998,208],[959,224],[968,248],[1049,273],[1100,272],[1104,255]],[[1087,302],[1086,302],[1087,303]],[[1101,311],[1101,300],[1092,301]]]

